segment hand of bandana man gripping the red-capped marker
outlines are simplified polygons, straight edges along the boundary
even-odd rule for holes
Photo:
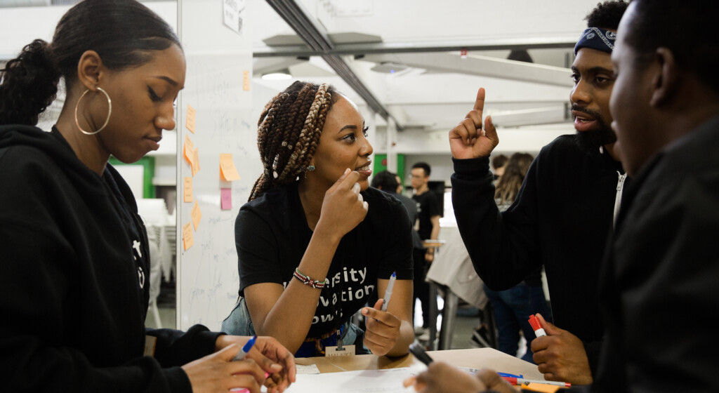
[[[547,322],[541,314],[536,317],[547,335],[531,342],[532,359],[539,372],[544,374],[544,379],[591,384],[592,371],[582,341],[567,330]]]

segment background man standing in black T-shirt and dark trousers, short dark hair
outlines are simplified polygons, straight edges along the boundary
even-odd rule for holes
[[[429,189],[429,174],[431,167],[426,162],[417,162],[412,165],[410,172],[414,195],[419,210],[417,232],[419,238],[424,240],[437,239],[439,236],[439,201],[436,195]],[[420,340],[429,339],[429,284],[425,282],[429,264],[434,261],[434,247],[426,247],[424,258],[414,262],[414,302],[416,299],[422,303],[422,326],[415,330]]]

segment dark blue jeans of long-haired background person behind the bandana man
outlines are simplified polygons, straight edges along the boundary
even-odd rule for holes
[[[485,293],[492,303],[492,308],[499,330],[499,350],[516,356],[519,349],[519,331],[527,341],[527,351],[522,360],[534,363],[532,350],[529,346],[535,338],[534,330],[529,325],[529,315],[541,313],[546,320],[551,320],[551,311],[544,298],[541,286],[533,287],[524,283],[508,290],[494,291],[485,285]]]

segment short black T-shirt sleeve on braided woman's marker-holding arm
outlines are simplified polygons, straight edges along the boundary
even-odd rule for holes
[[[370,205],[370,209],[372,206]],[[383,250],[377,265],[377,278],[389,279],[392,272],[397,272],[397,279],[413,279],[412,262],[412,225],[406,209],[397,200],[390,206],[388,217],[385,218],[387,231],[382,241]]]

